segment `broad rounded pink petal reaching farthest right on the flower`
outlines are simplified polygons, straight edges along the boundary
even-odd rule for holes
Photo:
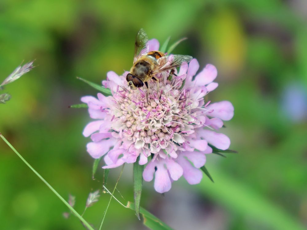
[[[229,121],[233,117],[234,108],[231,102],[222,101],[210,104],[206,107],[208,110],[213,110],[207,113],[210,117],[218,117],[224,121]]]

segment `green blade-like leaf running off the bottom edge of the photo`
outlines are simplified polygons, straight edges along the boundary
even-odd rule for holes
[[[134,203],[131,203],[130,201],[127,204],[127,208],[130,208],[132,210],[135,210]],[[152,230],[173,230],[173,228],[169,227],[167,224],[165,224],[162,220],[155,217],[153,214],[148,212],[146,209],[143,209],[140,207],[140,213],[143,217],[143,224],[152,229]]]

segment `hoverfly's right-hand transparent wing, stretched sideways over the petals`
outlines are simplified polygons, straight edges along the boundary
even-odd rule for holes
[[[162,73],[167,70],[171,70],[173,68],[177,68],[179,66],[182,66],[192,60],[192,56],[188,55],[170,55],[170,56],[164,56],[159,59],[157,59],[158,65],[153,70],[153,75]]]

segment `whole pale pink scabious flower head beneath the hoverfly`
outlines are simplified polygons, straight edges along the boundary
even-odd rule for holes
[[[158,50],[159,43],[149,41],[149,51]],[[99,93],[81,98],[87,103],[90,122],[83,131],[91,136],[87,151],[93,158],[104,156],[103,168],[115,168],[123,163],[146,165],[145,181],[154,180],[159,193],[170,190],[171,183],[182,175],[189,184],[202,179],[199,169],[212,153],[211,144],[226,150],[229,138],[218,131],[223,121],[233,117],[234,108],[228,101],[205,102],[204,96],[216,89],[213,82],[216,67],[206,65],[197,75],[199,64],[192,59],[169,78],[169,72],[156,75],[149,90],[130,90],[126,75],[107,73],[102,85],[111,90],[112,96]],[[148,101],[146,98],[148,95]]]

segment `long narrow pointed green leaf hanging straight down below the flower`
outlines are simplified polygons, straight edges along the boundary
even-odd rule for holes
[[[139,160],[140,156],[138,156],[137,161],[133,164],[133,187],[134,187],[135,214],[140,220],[140,201],[142,194],[144,165],[140,165]]]

